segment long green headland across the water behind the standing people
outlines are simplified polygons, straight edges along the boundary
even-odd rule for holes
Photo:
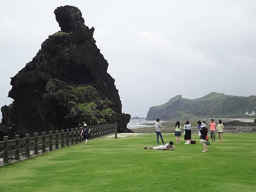
[[[177,95],[163,105],[149,108],[146,120],[222,117],[241,118],[245,112],[256,111],[256,96],[231,96],[212,92],[198,99],[186,99]]]

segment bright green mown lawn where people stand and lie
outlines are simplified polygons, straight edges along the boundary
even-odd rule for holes
[[[224,134],[207,153],[201,143],[144,150],[155,134],[102,137],[0,168],[0,191],[256,191],[255,137]]]

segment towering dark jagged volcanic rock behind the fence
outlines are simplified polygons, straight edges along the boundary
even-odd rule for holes
[[[61,6],[54,11],[60,32],[49,35],[41,50],[11,81],[3,106],[0,136],[61,130],[118,122],[126,128],[130,115],[122,104],[108,62],[96,47],[78,8]]]

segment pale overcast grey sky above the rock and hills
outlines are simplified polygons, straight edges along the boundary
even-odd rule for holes
[[[256,95],[255,0],[13,0],[0,6],[0,107],[12,103],[10,77],[60,30],[64,5],[95,28],[124,113],[145,117],[179,94]]]

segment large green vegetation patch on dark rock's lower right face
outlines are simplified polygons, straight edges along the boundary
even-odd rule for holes
[[[88,125],[97,125],[106,122],[115,122],[115,113],[111,109],[111,101],[102,99],[98,91],[91,85],[73,87],[60,84],[60,81],[48,81],[43,95],[44,102],[49,99],[57,100],[61,105],[68,107],[67,117],[87,122]]]

